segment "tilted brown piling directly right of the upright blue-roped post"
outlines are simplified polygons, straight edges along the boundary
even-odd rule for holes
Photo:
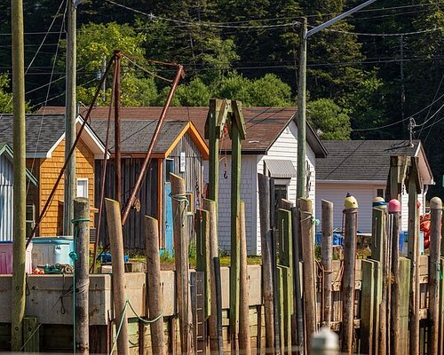
[[[122,219],[120,215],[120,203],[111,199],[105,199],[107,209],[107,230],[109,237],[109,247],[113,268],[113,298],[115,303],[115,324],[116,327],[122,322],[120,334],[117,337],[117,353],[119,355],[130,354],[130,340],[128,337],[128,317],[123,312],[126,306],[125,293],[125,264],[123,261],[123,233]]]

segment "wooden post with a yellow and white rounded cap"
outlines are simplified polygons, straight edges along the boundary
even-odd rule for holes
[[[344,277],[342,284],[342,351],[353,353],[353,320],[354,320],[354,276],[356,265],[356,227],[358,220],[358,202],[347,194],[345,198],[345,257]]]

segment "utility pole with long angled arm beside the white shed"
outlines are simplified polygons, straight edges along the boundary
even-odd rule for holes
[[[322,23],[321,25],[307,31],[306,19],[302,19],[300,53],[299,53],[299,83],[297,85],[297,199],[305,198],[305,87],[306,87],[306,45],[309,36],[312,36],[321,29],[328,28],[339,20],[358,12],[369,4],[377,0],[368,0],[365,3],[353,7],[353,9],[341,13],[337,17]]]

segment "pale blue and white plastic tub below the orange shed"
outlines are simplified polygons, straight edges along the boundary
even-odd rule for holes
[[[32,268],[46,264],[74,264],[69,253],[74,250],[71,236],[33,238]]]

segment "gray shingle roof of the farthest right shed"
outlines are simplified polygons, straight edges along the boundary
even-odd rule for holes
[[[406,140],[323,140],[329,154],[316,160],[316,179],[386,180],[391,155],[415,156]]]

